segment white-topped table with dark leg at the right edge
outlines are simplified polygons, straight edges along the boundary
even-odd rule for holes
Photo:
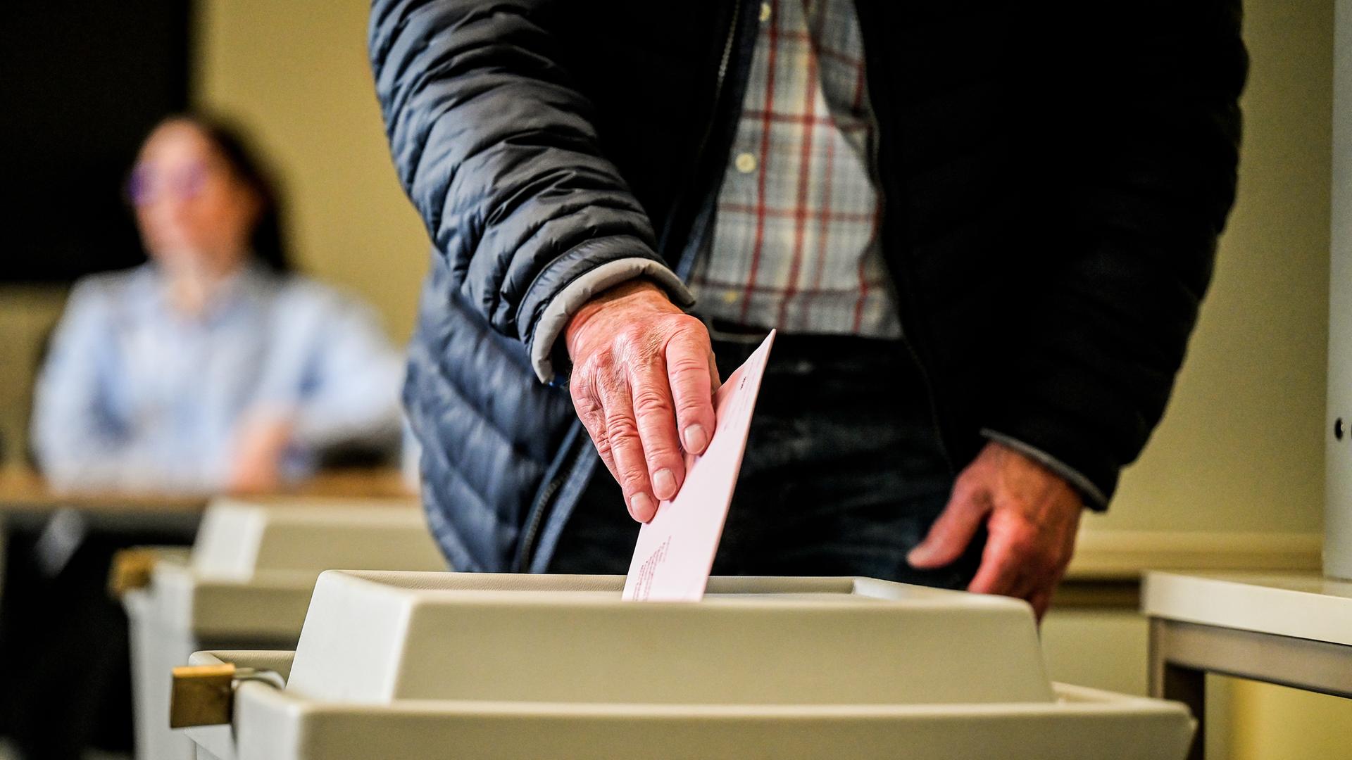
[[[1146,573],[1151,696],[1187,703],[1202,760],[1206,673],[1352,698],[1352,583],[1318,573]]]

